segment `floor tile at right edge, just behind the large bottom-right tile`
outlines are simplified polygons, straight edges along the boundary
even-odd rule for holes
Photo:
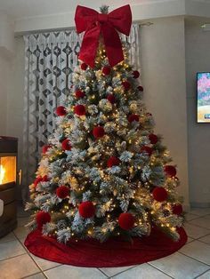
[[[206,243],[193,241],[183,246],[180,251],[193,259],[198,259],[207,265],[210,265],[210,245]]]

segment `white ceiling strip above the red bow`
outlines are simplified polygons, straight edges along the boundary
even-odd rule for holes
[[[77,4],[98,9],[102,4],[121,6],[123,4],[149,4],[173,0],[0,0],[0,11],[15,19],[46,14],[74,12]]]

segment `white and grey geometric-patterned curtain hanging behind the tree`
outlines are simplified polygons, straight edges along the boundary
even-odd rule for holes
[[[130,60],[140,68],[139,25],[129,37]],[[25,41],[25,96],[23,134],[23,201],[35,177],[41,149],[52,134],[54,111],[68,96],[82,36],[75,30],[32,34]]]

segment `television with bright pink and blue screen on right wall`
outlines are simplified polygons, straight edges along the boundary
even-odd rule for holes
[[[197,121],[210,123],[210,72],[197,73]]]

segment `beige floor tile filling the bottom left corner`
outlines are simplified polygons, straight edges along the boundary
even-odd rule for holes
[[[0,261],[0,270],[1,279],[19,279],[40,271],[28,254]]]

